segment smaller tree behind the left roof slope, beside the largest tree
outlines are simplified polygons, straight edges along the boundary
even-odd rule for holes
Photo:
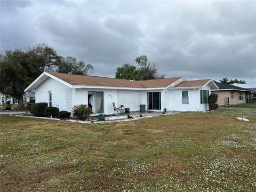
[[[90,75],[93,73],[93,66],[86,64],[85,61],[77,61],[74,57],[60,57],[58,66],[59,73],[74,74],[74,75]]]

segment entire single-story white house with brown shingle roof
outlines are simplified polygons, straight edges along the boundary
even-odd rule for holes
[[[113,102],[130,111],[178,110],[204,111],[209,109],[207,96],[218,86],[211,79],[187,81],[184,77],[130,81],[108,77],[41,74],[25,90],[35,90],[36,102],[47,102],[60,110],[71,111],[81,103],[92,106],[94,114],[113,113]]]

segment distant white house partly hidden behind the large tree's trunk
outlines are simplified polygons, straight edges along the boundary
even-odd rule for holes
[[[10,95],[5,95],[5,94],[0,93],[0,98],[1,98],[0,105],[3,105],[4,103],[9,103],[10,105],[19,104],[18,99],[10,97]],[[23,102],[24,103],[29,102],[31,100],[35,101],[35,91],[34,90],[23,94]]]

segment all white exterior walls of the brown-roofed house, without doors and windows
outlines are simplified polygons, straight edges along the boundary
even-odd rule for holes
[[[167,110],[177,111],[201,111],[207,110],[207,104],[200,103],[200,90],[209,90],[209,85],[205,85],[202,89],[164,89],[164,90],[114,90],[114,89],[74,89],[70,88],[58,81],[48,78],[36,88],[36,102],[48,102],[48,91],[52,91],[52,106],[58,105],[60,110],[71,111],[74,105],[88,105],[88,92],[99,91],[103,92],[103,107],[105,114],[112,114],[113,102],[116,107],[124,105],[125,108],[130,108],[130,111],[140,110],[139,105],[146,105],[147,92],[161,92],[161,111],[164,108]],[[188,91],[189,104],[182,104],[182,91]]]

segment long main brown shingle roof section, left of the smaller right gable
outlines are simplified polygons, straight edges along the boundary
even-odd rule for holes
[[[62,73],[47,72],[71,85],[89,85],[89,86],[111,86],[111,87],[133,87],[133,88],[153,88],[166,87],[181,77],[151,79],[145,81],[133,81],[127,79],[116,79],[109,77],[97,77],[88,75],[70,75]]]

